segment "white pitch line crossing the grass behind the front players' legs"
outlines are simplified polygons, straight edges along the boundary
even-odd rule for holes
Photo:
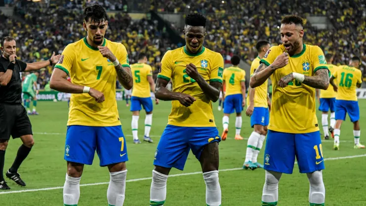
[[[329,157],[329,158],[324,158],[324,161],[325,160],[337,160],[337,159],[351,159],[351,158],[364,157],[364,156],[366,156],[366,154],[353,155],[353,156]],[[297,162],[295,162],[295,164],[296,163]],[[240,168],[231,168],[231,169],[220,169],[220,172],[241,170],[241,169],[243,169],[243,168],[240,167]],[[193,174],[202,174],[202,172],[172,174],[172,175],[169,175],[169,177],[179,177],[179,176],[186,176],[186,175],[193,175]],[[126,182],[138,182],[138,181],[151,180],[151,179],[152,179],[151,177],[146,177],[146,178],[126,180]],[[107,184],[109,184],[109,182],[98,182],[98,183],[90,183],[90,184],[81,184],[80,187],[94,186],[94,185],[107,185]],[[0,195],[2,195],[2,194],[11,194],[11,193],[25,193],[25,192],[57,190],[57,189],[63,189],[63,186],[62,187],[48,187],[48,188],[32,189],[32,190],[17,190],[17,191],[9,191],[9,192],[0,192]]]

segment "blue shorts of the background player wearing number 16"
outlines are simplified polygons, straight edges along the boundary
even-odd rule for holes
[[[337,100],[335,103],[335,119],[346,120],[346,113],[351,122],[360,120],[360,108],[357,101]]]

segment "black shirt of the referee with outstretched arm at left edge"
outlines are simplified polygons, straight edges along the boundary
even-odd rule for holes
[[[7,66],[10,64],[9,59],[0,57],[0,72],[6,72]],[[13,74],[6,86],[0,86],[0,103],[21,104],[22,103],[22,80],[20,72],[27,68],[27,63],[15,60]]]

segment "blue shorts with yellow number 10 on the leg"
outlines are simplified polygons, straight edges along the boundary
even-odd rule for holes
[[[300,173],[324,169],[320,132],[290,134],[268,130],[265,170],[292,174],[295,156]]]

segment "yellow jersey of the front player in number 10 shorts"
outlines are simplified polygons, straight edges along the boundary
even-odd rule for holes
[[[304,49],[289,57],[283,68],[277,69],[271,76],[273,82],[272,109],[268,129],[285,133],[309,133],[319,131],[315,107],[315,88],[293,80],[287,87],[281,88],[278,81],[297,72],[305,76],[314,76],[319,69],[327,69],[323,51],[318,46],[303,45]],[[271,47],[261,63],[267,66],[285,51],[283,45]]]

